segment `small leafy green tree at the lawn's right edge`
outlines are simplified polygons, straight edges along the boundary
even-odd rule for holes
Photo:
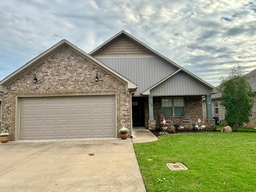
[[[254,103],[254,93],[248,82],[250,76],[244,75],[242,68],[237,65],[227,78],[221,80],[221,104],[225,107],[225,120],[234,131],[238,125],[249,122]]]

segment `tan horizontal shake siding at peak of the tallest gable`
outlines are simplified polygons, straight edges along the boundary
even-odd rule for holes
[[[153,55],[148,50],[142,48],[126,37],[120,37],[102,47],[92,56],[134,56],[134,55]]]

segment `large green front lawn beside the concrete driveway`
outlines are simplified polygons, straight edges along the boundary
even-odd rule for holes
[[[148,192],[256,191],[256,133],[177,134],[134,150]],[[188,170],[171,171],[168,162]]]

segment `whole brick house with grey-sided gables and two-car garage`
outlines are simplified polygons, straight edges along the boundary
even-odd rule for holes
[[[131,136],[132,126],[158,126],[162,110],[173,124],[184,112],[197,121],[202,96],[219,90],[121,31],[89,54],[60,41],[4,78],[0,92],[2,131],[26,140],[117,137],[121,127]]]

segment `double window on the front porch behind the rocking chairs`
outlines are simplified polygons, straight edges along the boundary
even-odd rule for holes
[[[184,116],[184,98],[162,99],[162,111],[165,116]]]

